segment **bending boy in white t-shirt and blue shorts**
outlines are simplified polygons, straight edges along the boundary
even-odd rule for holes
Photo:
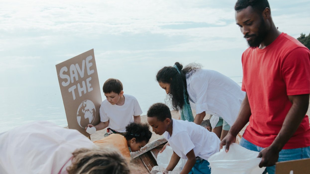
[[[187,162],[181,174],[211,173],[207,160],[219,152],[220,143],[215,133],[193,122],[171,119],[170,109],[163,103],[153,104],[147,115],[153,132],[163,135],[172,147],[173,154],[167,171],[172,171],[183,158]]]

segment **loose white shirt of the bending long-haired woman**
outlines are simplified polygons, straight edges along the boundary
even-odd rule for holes
[[[223,74],[199,69],[188,79],[189,100],[196,105],[196,113],[222,117],[230,126],[236,121],[242,100],[246,96],[241,87]]]

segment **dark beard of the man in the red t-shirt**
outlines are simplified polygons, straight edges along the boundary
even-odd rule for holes
[[[261,22],[258,28],[257,35],[250,35],[250,36],[245,35],[244,37],[246,38],[246,37],[254,36],[252,40],[247,41],[247,42],[251,48],[257,48],[259,47],[260,43],[262,43],[262,41],[266,38],[267,34],[268,34],[268,30],[266,29],[266,23],[263,20],[263,18],[261,18]]]

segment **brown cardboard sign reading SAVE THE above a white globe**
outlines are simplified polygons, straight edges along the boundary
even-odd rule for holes
[[[100,122],[102,102],[94,49],[56,65],[68,127],[85,136],[87,124]]]

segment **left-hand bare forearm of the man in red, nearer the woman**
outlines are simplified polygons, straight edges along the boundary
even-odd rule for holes
[[[241,103],[240,111],[237,120],[229,130],[234,137],[238,135],[241,129],[249,122],[251,116],[251,108],[248,96],[246,94],[244,100]]]

